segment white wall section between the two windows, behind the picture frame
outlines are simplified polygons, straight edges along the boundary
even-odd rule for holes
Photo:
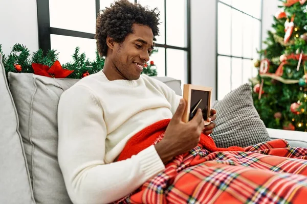
[[[213,88],[216,99],[216,0],[191,0],[191,83]]]

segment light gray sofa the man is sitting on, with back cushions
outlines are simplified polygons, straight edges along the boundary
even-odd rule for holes
[[[57,162],[57,104],[78,80],[13,72],[7,78],[1,54],[0,62],[0,203],[71,203]],[[182,94],[179,80],[155,78]],[[307,147],[307,133],[265,131]]]

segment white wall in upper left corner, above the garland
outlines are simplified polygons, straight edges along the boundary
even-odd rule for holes
[[[7,56],[15,43],[24,44],[30,53],[38,49],[36,0],[0,0],[0,44]]]

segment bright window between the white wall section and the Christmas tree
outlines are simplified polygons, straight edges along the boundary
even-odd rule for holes
[[[257,74],[262,0],[217,1],[217,99]]]

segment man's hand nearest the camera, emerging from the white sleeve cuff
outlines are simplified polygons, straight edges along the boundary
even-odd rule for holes
[[[155,146],[164,164],[173,157],[191,150],[200,141],[204,129],[202,110],[198,109],[193,119],[185,123],[182,121],[185,107],[185,100],[181,99],[176,113],[167,126],[163,139]]]

